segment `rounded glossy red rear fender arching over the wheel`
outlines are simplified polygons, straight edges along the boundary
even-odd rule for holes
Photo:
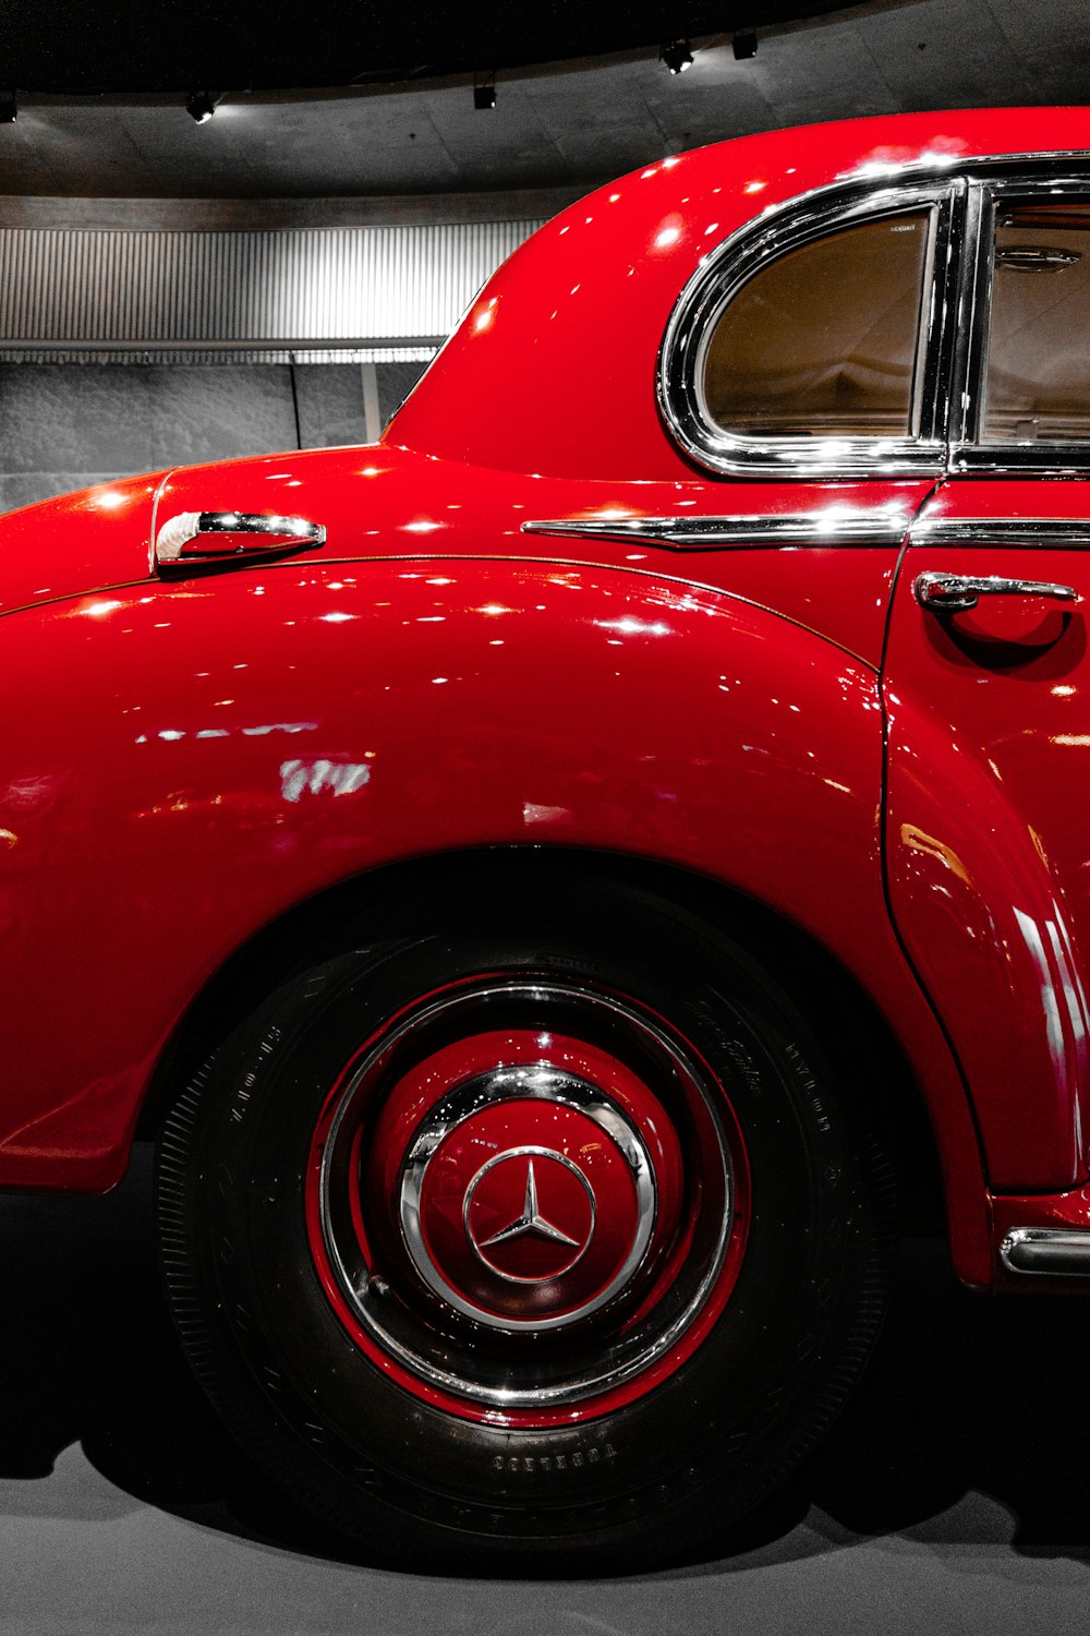
[[[606,849],[758,898],[856,975],[985,1243],[884,908],[878,677],[833,643],[639,569],[299,561],[16,614],[0,674],[26,700],[0,751],[0,1181],[114,1181],[193,996],[293,905],[459,847]]]

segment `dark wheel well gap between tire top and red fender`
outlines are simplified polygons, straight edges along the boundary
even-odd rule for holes
[[[935,1137],[923,1098],[900,1045],[855,977],[815,939],[758,903],[704,875],[614,852],[541,847],[487,847],[391,864],[289,910],[242,946],[196,996],[163,1052],[137,1137],[154,1139],[173,1088],[188,1081],[230,1032],[294,972],[340,947],[350,926],[407,890],[479,877],[482,890],[503,890],[526,874],[613,880],[686,910],[727,934],[783,988],[817,1039],[840,1081],[896,1165],[902,1222],[909,1232],[943,1232],[945,1209]],[[878,1088],[878,1094],[876,1094]]]

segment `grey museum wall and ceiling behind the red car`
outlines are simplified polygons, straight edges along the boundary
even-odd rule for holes
[[[127,11],[139,26],[127,0],[113,10],[114,29]],[[379,56],[397,44],[374,7],[356,8],[360,62],[335,5],[245,49],[247,7],[199,49],[196,13],[175,38],[183,25],[160,10],[159,38],[147,25],[144,54],[123,59],[88,31],[34,57],[23,0],[0,20],[0,61],[29,87],[0,83],[2,510],[134,471],[373,438],[521,239],[663,154],[814,119],[1085,98],[1082,0],[1048,15],[1026,0],[766,5],[737,51],[730,33],[699,33],[737,7],[636,5],[583,33],[561,7],[539,39],[508,28],[511,65],[446,74],[485,47],[462,8],[415,7],[433,31],[423,85],[417,67],[397,85],[382,64],[350,72],[371,61],[368,26]],[[489,28],[494,13],[480,10]],[[667,13],[686,72],[662,61],[667,36],[654,43]],[[596,54],[572,59],[580,44]],[[186,87],[208,75],[227,88],[196,123]]]

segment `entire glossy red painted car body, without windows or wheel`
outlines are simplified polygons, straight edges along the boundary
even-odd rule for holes
[[[989,610],[958,633],[910,581],[1031,573],[1090,596],[1085,555],[912,545],[882,825],[892,540],[680,551],[521,525],[833,506],[907,524],[930,479],[696,471],[655,402],[663,326],[771,203],[1052,147],[1090,147],[1090,113],[915,115],[665,160],[525,245],[382,443],[5,519],[0,1183],[111,1184],[186,1009],[314,893],[461,847],[600,849],[724,882],[858,978],[927,1103],[958,1268],[992,1276],[982,1153],[992,1189],[1026,1198],[1090,1170],[1085,604],[1056,630]],[[1082,492],[956,478],[928,515],[1079,519]],[[150,574],[154,522],[224,509],[328,538]]]

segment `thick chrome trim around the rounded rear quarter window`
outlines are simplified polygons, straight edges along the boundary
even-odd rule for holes
[[[659,352],[659,412],[667,430],[701,466],[730,476],[920,476],[946,465],[945,381],[956,334],[958,265],[966,183],[948,173],[894,187],[833,185],[801,195],[717,245],[678,296]],[[935,211],[925,311],[923,378],[909,437],[770,437],[726,432],[703,406],[703,357],[721,312],[771,260],[829,234],[914,206]],[[930,276],[930,293],[927,278]]]

